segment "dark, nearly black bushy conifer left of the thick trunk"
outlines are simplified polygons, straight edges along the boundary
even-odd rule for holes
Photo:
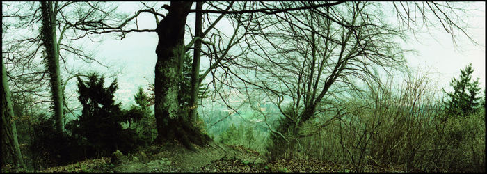
[[[120,104],[115,104],[113,100],[113,94],[118,89],[117,81],[107,88],[103,84],[104,77],[97,74],[90,74],[88,81],[78,77],[78,98],[83,111],[77,120],[67,126],[74,137],[86,140],[84,143],[93,148],[97,157],[109,155],[115,150],[128,152],[141,143],[136,132],[122,130],[120,123],[141,120],[142,112],[121,111]]]

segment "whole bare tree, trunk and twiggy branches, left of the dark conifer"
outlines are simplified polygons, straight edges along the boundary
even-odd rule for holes
[[[39,98],[35,104],[52,102],[56,129],[62,130],[65,122],[64,114],[72,113],[76,109],[68,104],[70,97],[65,97],[66,86],[72,76],[82,73],[79,70],[67,68],[66,61],[68,58],[77,57],[86,63],[95,62],[103,65],[93,58],[93,53],[86,52],[81,45],[72,42],[72,40],[79,40],[87,35],[83,31],[72,28],[66,20],[108,20],[116,18],[118,14],[99,13],[97,10],[99,8],[109,11],[113,11],[115,8],[105,8],[102,6],[103,3],[98,2],[23,2],[3,3],[2,5],[8,9],[6,13],[2,14],[3,19],[6,19],[6,22],[3,23],[4,26],[7,26],[8,31],[6,32],[25,32],[24,35],[9,37],[8,40],[5,40],[9,44],[2,45],[7,51],[2,52],[2,55],[11,65],[8,68],[13,68],[8,74],[10,79],[15,82],[13,83],[13,93],[34,93]],[[40,30],[38,30],[38,25],[41,25]],[[87,38],[93,39],[89,36]],[[43,64],[45,64],[45,68],[42,67]],[[47,74],[49,74],[49,78],[47,78]],[[67,74],[69,77],[63,80],[61,77],[63,74]],[[47,79],[50,79],[50,82]],[[51,95],[45,93],[48,90],[48,82],[51,86]],[[47,100],[45,97],[52,97],[52,99]]]

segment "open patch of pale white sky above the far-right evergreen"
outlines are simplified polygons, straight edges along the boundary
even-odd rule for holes
[[[486,84],[485,2],[475,2],[474,6],[481,11],[470,14],[464,22],[468,22],[468,31],[479,45],[468,41],[461,33],[456,33],[459,36],[458,46],[454,47],[452,36],[445,32],[442,26],[431,29],[431,34],[426,31],[417,34],[417,40],[410,34],[411,39],[404,45],[405,48],[418,52],[417,55],[411,54],[406,57],[410,65],[413,68],[429,70],[432,77],[438,78],[438,86],[449,86],[452,77],[458,79],[460,69],[464,69],[468,63],[472,63],[474,69],[472,79],[479,77],[481,88]]]

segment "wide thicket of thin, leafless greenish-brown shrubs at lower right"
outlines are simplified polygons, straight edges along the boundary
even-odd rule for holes
[[[341,102],[346,114],[340,120],[301,139],[306,155],[352,164],[356,171],[379,164],[405,171],[485,172],[484,109],[451,116],[424,79],[414,80],[396,94],[371,88],[369,97]]]

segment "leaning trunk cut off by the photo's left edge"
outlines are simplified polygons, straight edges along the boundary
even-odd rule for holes
[[[1,74],[1,167],[10,164],[17,168],[25,168],[17,140],[17,127],[15,127],[15,119],[13,119],[12,100],[3,58],[1,59]]]

